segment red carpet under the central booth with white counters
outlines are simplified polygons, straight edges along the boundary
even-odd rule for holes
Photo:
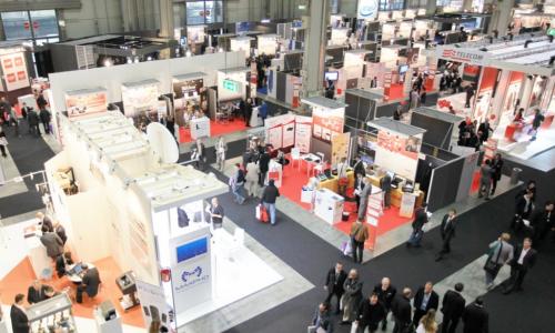
[[[282,176],[283,179],[282,179],[282,186],[280,188],[280,193],[285,198],[287,198],[289,200],[295,202],[303,209],[310,210],[309,203],[301,202],[302,188],[309,182],[305,164],[301,163],[301,169],[299,170],[296,162],[294,167],[292,165],[292,163],[290,163],[283,169]],[[344,232],[345,234],[349,234],[349,232],[351,231],[351,224],[356,220],[355,210],[356,210],[356,204],[354,202],[346,201],[345,211],[351,213],[350,219],[347,222],[341,222],[335,224],[334,226],[337,230]],[[412,221],[412,219],[398,216],[398,209],[392,206],[390,210],[384,211],[384,214],[380,218],[380,222],[377,224],[377,235],[384,234],[410,221]],[[366,248],[370,248],[369,244],[366,244]]]

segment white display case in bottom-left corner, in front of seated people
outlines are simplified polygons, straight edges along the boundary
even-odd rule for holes
[[[68,294],[61,293],[50,300],[29,306],[27,316],[29,317],[30,332],[77,332],[71,305]]]

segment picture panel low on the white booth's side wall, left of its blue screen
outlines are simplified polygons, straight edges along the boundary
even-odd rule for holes
[[[160,332],[172,332],[175,330],[170,315],[171,307],[165,302],[165,294],[160,285],[150,284],[135,280],[137,294],[141,300],[142,317],[144,325],[150,327],[151,323],[160,322]],[[165,330],[164,330],[165,329]]]

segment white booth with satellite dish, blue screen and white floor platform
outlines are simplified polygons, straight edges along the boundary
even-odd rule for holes
[[[228,184],[175,164],[179,150],[163,125],[149,124],[148,139],[120,112],[61,115],[60,125],[63,150],[44,164],[53,209],[74,258],[113,261],[142,285],[118,302],[120,313],[130,297],[152,304],[147,285],[163,295],[157,304],[162,325],[176,330],[282,280],[243,245],[244,231],[230,234],[211,223],[205,201],[226,193]],[[57,176],[68,168],[72,193]]]

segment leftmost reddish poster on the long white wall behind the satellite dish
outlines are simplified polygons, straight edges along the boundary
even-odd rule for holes
[[[69,118],[107,112],[107,90],[102,88],[69,91],[65,94]]]

